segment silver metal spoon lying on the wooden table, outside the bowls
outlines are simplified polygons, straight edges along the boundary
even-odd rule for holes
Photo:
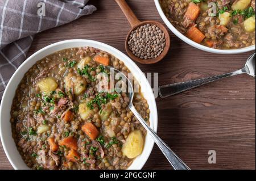
[[[245,67],[240,70],[232,71],[231,73],[215,75],[213,77],[208,78],[200,78],[187,82],[178,82],[169,85],[159,86],[159,95],[161,98],[167,98],[168,96],[179,94],[180,92],[184,92],[195,87],[199,87],[201,85],[217,81],[225,77],[232,77],[234,75],[245,73],[255,78],[255,53],[247,59]]]

